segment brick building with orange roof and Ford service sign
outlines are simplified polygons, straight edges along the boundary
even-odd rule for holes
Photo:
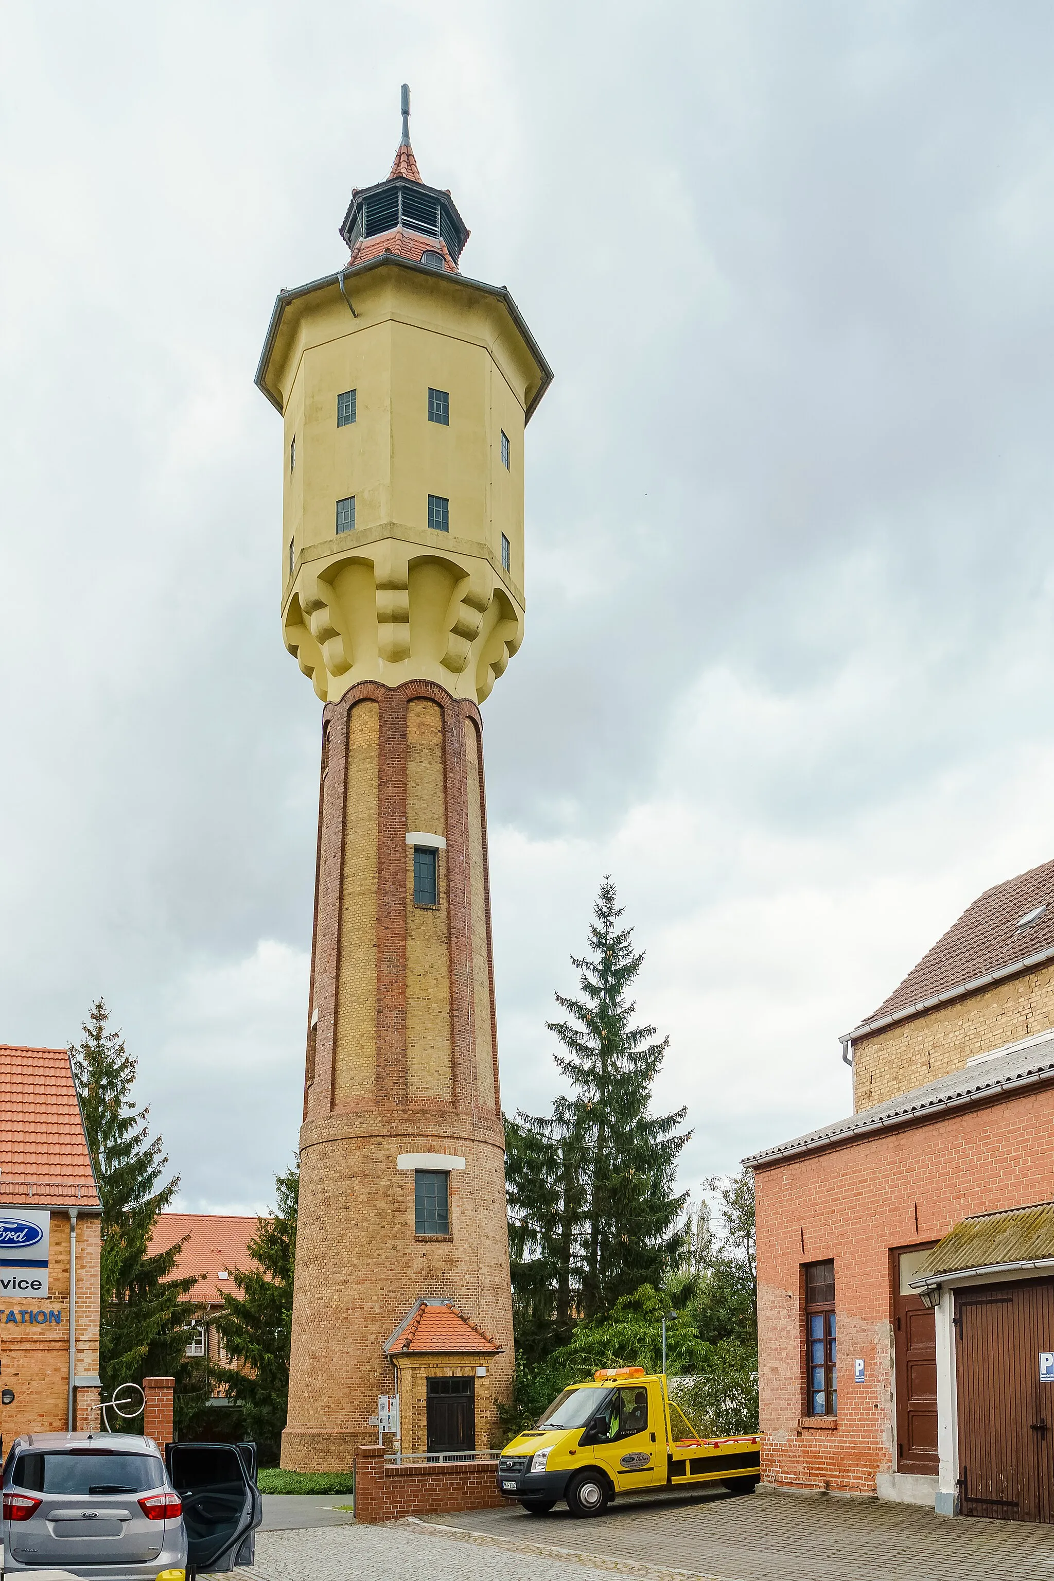
[[[98,1421],[101,1203],[65,1048],[0,1045],[0,1434]]]

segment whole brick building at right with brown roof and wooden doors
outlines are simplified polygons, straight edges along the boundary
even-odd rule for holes
[[[1052,972],[1046,863],[844,1037],[850,1118],[746,1160],[766,1481],[1054,1518]]]

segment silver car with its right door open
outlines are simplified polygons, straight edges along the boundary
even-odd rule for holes
[[[185,1581],[253,1562],[262,1515],[251,1443],[33,1432],[3,1464],[6,1575]]]

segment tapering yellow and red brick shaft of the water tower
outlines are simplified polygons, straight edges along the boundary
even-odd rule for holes
[[[420,1296],[454,1301],[501,1347],[480,1447],[512,1388],[479,729],[474,702],[425,680],[365,681],[326,708],[289,1469],[351,1469],[378,1394],[397,1388],[384,1342]],[[416,828],[447,840],[435,912],[412,903]],[[400,1153],[466,1160],[449,1238],[416,1236]]]

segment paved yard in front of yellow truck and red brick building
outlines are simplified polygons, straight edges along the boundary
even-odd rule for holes
[[[645,1575],[719,1581],[920,1581],[929,1575],[954,1581],[1054,1581],[1051,1526],[950,1521],[879,1499],[667,1496],[626,1499],[593,1521],[575,1521],[563,1507],[531,1516],[512,1505],[433,1516],[431,1524],[496,1538],[503,1548],[510,1541],[574,1549],[583,1564],[607,1560],[608,1570],[629,1562]],[[507,1557],[501,1573],[509,1575]]]

